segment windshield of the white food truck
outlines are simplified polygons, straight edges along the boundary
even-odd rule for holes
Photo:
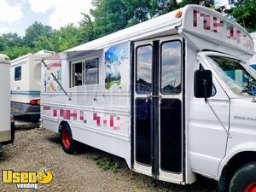
[[[256,74],[243,62],[225,56],[208,55],[212,67],[239,96],[256,95]],[[246,70],[247,69],[247,70]]]

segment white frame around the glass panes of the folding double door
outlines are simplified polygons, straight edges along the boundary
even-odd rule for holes
[[[142,45],[146,45],[146,44],[154,44],[154,41],[158,41],[158,70],[159,72],[157,73],[159,75],[159,81],[158,82],[152,82],[152,84],[156,83],[158,84],[157,87],[159,89],[160,92],[160,63],[161,63],[161,44],[163,42],[169,42],[169,41],[174,41],[174,40],[179,40],[181,42],[181,81],[182,81],[182,90],[181,90],[181,94],[180,96],[177,96],[178,99],[180,99],[180,101],[182,102],[182,106],[181,106],[181,125],[182,125],[182,172],[180,174],[177,173],[173,173],[173,172],[162,172],[160,170],[160,108],[158,110],[158,121],[157,124],[158,125],[154,125],[155,127],[157,126],[158,129],[154,129],[157,130],[157,144],[158,146],[156,147],[154,145],[154,150],[157,150],[156,153],[154,153],[154,159],[153,159],[153,166],[149,166],[145,169],[145,166],[143,165],[139,165],[137,164],[136,161],[136,148],[135,148],[135,114],[136,114],[136,108],[135,108],[135,100],[137,98],[137,93],[136,93],[136,77],[137,77],[137,47],[142,46]],[[166,36],[166,37],[160,37],[160,38],[151,38],[151,39],[147,39],[147,40],[142,40],[142,41],[137,41],[137,42],[131,42],[131,167],[135,172],[140,172],[143,173],[145,175],[163,180],[163,181],[167,181],[167,182],[172,182],[172,183],[184,183],[185,182],[185,172],[186,172],[186,151],[185,151],[185,40],[179,36],[179,35],[173,35],[173,36]],[[154,61],[154,46],[153,46],[153,61]],[[155,62],[155,61],[154,61]],[[154,70],[152,68],[152,70]],[[152,73],[152,75],[154,75],[154,72]],[[153,78],[153,77],[152,77]],[[160,94],[161,95],[161,94]],[[144,97],[143,95],[138,95],[139,97]],[[167,96],[167,97],[171,97],[174,98],[175,96]],[[155,117],[153,117],[155,118]],[[154,121],[156,122],[156,121]],[[157,161],[157,162],[155,162]],[[157,171],[154,170],[156,167]]]

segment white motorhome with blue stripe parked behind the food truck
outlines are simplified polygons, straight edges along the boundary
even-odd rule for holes
[[[41,60],[55,52],[40,50],[11,61],[11,111],[14,115],[28,115],[32,121],[40,118]]]

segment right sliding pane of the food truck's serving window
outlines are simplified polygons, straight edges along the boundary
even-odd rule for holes
[[[98,59],[87,60],[84,63],[84,83],[99,84],[99,62]]]

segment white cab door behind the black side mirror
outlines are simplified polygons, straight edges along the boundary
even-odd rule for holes
[[[209,69],[199,56],[196,69]],[[228,139],[225,130],[229,130],[230,125],[230,99],[214,75],[212,83],[209,104],[204,98],[190,98],[189,160],[194,172],[218,177],[218,166],[224,158]]]

